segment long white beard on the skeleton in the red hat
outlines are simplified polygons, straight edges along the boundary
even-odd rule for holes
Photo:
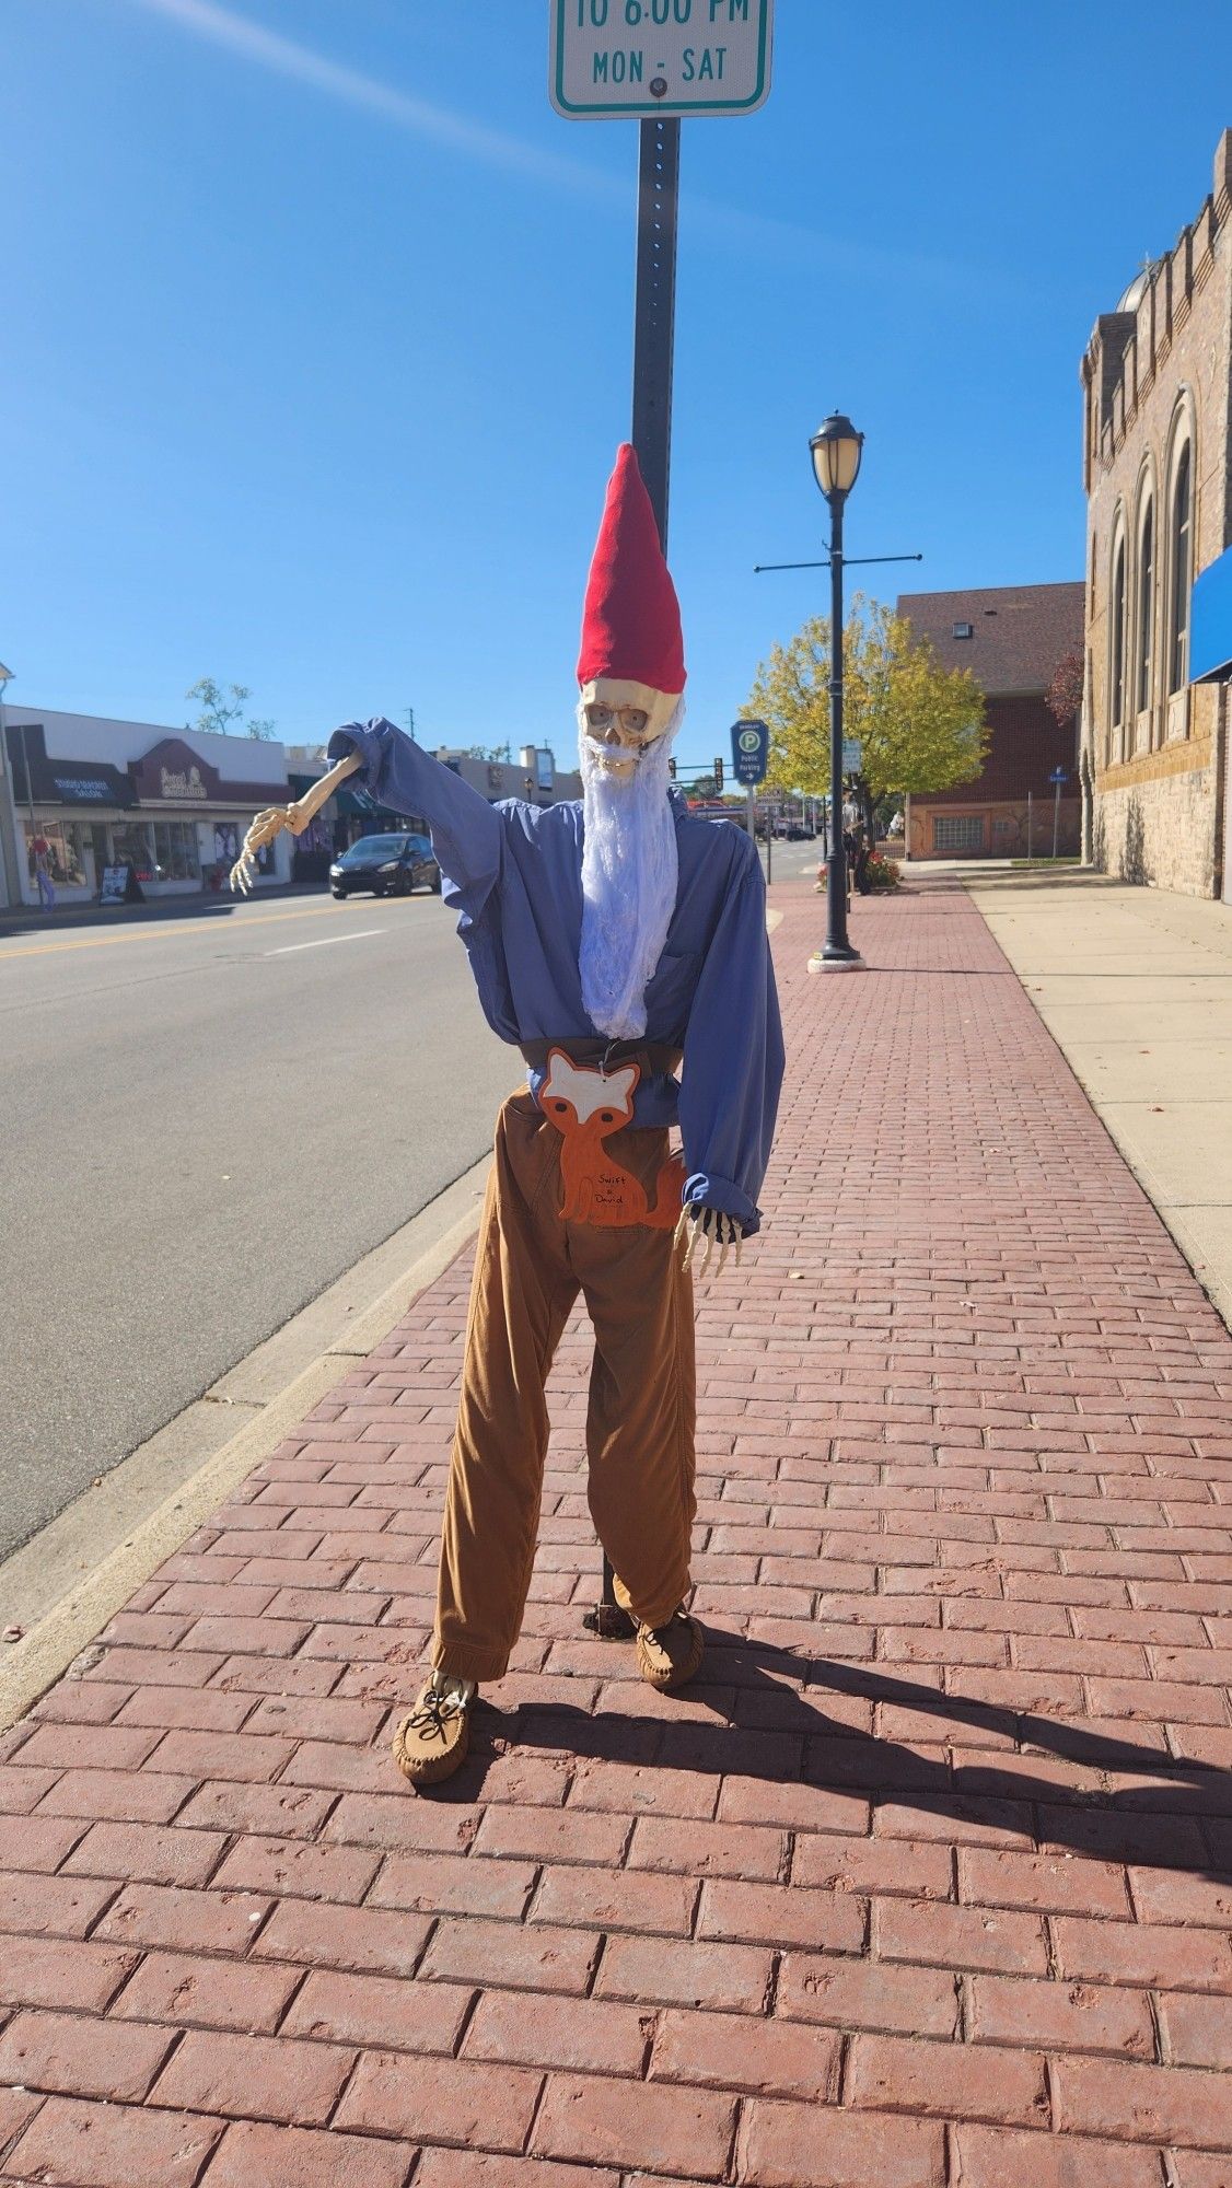
[[[646,1033],[646,987],[676,910],[676,818],[667,801],[667,755],[683,722],[681,700],[665,733],[641,748],[632,777],[597,759],[578,709],[582,755],[582,1002],[613,1041]]]

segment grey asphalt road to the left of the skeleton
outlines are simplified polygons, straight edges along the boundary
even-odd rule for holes
[[[0,941],[0,1556],[490,1144],[438,897]]]

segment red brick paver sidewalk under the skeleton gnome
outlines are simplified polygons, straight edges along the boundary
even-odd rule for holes
[[[961,888],[842,980],[775,895],[705,1685],[580,1630],[573,1324],[516,1672],[400,1788],[457,1262],[0,1742],[2,2181],[1232,2184],[1232,1343]]]

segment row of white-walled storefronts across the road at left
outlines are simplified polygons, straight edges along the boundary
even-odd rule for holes
[[[223,888],[254,814],[289,796],[280,744],[13,707],[4,720],[26,904],[88,904],[120,869],[153,899]],[[258,869],[291,877],[284,836]]]

